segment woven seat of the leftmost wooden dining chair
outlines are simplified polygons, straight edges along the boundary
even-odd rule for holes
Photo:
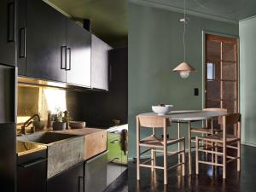
[[[179,143],[179,142],[182,142],[183,140],[184,140],[184,137],[181,137],[179,139],[168,138],[167,145]],[[160,138],[160,137],[154,137],[154,136],[145,137],[142,140],[140,140],[139,145],[144,146],[144,147],[163,148],[164,147],[164,139]]]

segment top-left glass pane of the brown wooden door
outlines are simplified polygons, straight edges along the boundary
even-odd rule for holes
[[[207,59],[208,60],[220,60],[220,42],[218,41],[207,41]]]

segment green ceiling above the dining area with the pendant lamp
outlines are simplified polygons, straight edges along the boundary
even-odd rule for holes
[[[182,11],[183,0],[131,0],[135,3],[151,4],[161,8],[176,8]],[[186,0],[189,11],[212,15],[230,21],[244,20],[256,15],[256,0]]]

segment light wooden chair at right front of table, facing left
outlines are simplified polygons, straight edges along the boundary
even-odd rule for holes
[[[223,116],[219,120],[220,124],[223,127],[222,132],[218,132],[217,134],[213,134],[206,137],[196,137],[195,141],[195,161],[196,161],[196,174],[199,174],[199,164],[207,164],[212,166],[222,166],[223,167],[223,178],[226,178],[226,165],[233,160],[237,161],[237,171],[240,171],[241,168],[241,114],[240,113],[232,113],[226,116]],[[236,126],[234,126],[236,125]],[[235,134],[227,134],[227,130],[230,127],[235,127],[237,131]],[[213,143],[212,148],[215,150],[209,150],[205,148],[201,148],[199,146],[200,142],[211,142]],[[235,146],[234,144],[237,144]],[[219,151],[218,148],[222,148],[222,151]],[[227,148],[234,148],[237,150],[236,157],[230,156],[227,154]],[[209,162],[204,160],[199,160],[199,153],[212,153],[215,154],[215,162]],[[218,162],[218,156],[222,156],[222,162]]]

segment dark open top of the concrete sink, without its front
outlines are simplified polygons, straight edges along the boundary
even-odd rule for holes
[[[18,141],[22,142],[32,142],[41,144],[50,144],[65,140],[68,138],[77,137],[76,135],[61,134],[55,132],[36,132],[30,135],[23,135],[17,137]]]

